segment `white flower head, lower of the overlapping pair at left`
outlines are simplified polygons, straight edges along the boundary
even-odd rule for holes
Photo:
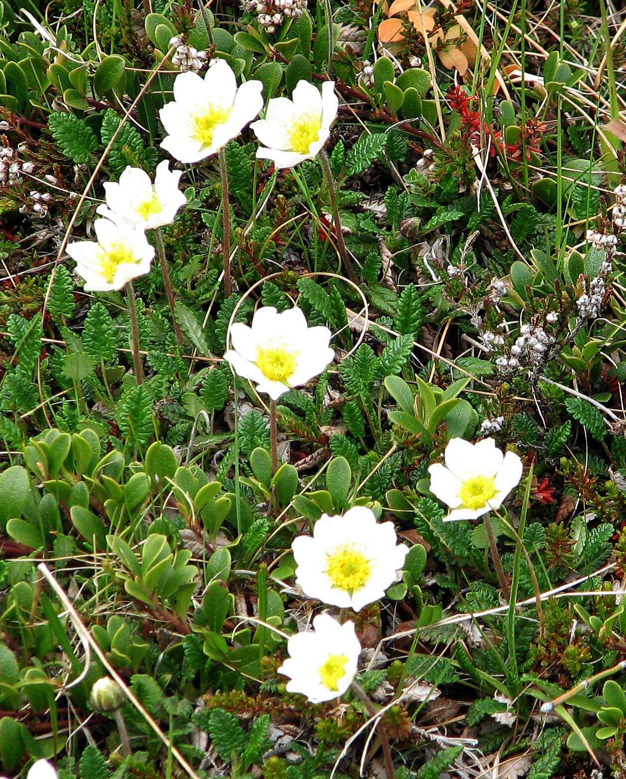
[[[86,291],[121,290],[150,271],[154,249],[142,227],[97,219],[94,230],[97,241],[72,241],[66,249],[76,261],[76,272],[85,280]]]

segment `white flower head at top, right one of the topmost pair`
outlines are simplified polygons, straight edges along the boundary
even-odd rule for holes
[[[300,80],[292,100],[274,97],[265,118],[250,125],[264,144],[256,150],[256,157],[274,160],[276,167],[292,167],[312,159],[327,142],[338,108],[334,81],[324,81],[320,94],[317,86]]]

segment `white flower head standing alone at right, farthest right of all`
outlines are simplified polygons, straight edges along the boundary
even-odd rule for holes
[[[503,455],[493,439],[451,439],[444,456],[445,465],[428,471],[430,492],[452,509],[446,520],[476,520],[499,509],[522,478],[522,460],[514,452]]]

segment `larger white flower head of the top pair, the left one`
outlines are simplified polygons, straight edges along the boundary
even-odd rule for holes
[[[204,78],[191,71],[176,76],[174,100],[159,116],[168,133],[161,147],[181,162],[198,162],[236,138],[263,107],[260,81],[239,89],[235,73],[218,59]]]

